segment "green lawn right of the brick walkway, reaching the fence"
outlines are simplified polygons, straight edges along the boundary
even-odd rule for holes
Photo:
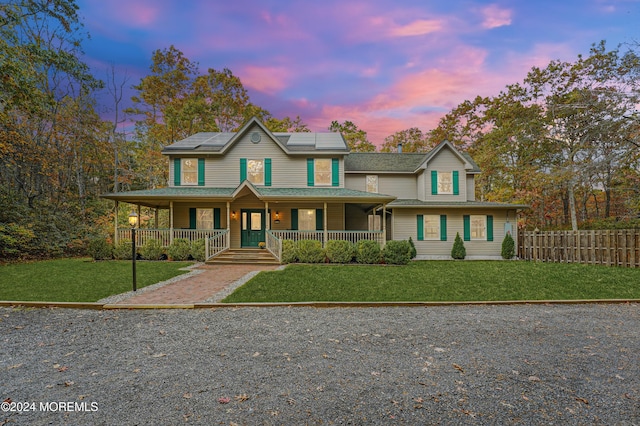
[[[224,299],[239,302],[640,299],[640,269],[524,261],[290,265]]]

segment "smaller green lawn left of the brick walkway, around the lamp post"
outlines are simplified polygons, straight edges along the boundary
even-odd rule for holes
[[[137,286],[176,275],[193,262],[136,262]],[[58,259],[0,266],[0,300],[96,302],[132,289],[131,261]]]

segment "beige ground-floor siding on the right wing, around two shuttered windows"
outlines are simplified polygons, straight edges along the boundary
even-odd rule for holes
[[[420,214],[437,214],[447,216],[447,241],[428,240],[418,241],[418,225],[417,215]],[[467,250],[467,258],[474,257],[500,257],[502,249],[502,240],[504,239],[505,222],[507,213],[504,210],[474,210],[473,212],[463,211],[459,209],[449,210],[421,210],[421,209],[395,209],[393,211],[393,238],[395,240],[408,240],[409,237],[414,241],[418,256],[422,257],[450,257],[453,241],[456,233],[460,234],[460,238],[464,238],[464,224],[462,216],[465,214],[479,214],[493,216],[493,241],[465,241],[464,246]],[[515,212],[510,211],[511,225],[513,226],[512,236],[517,236],[514,217]]]

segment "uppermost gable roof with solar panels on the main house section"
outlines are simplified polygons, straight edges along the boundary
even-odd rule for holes
[[[162,150],[163,154],[207,153],[224,154],[247,133],[260,128],[267,137],[287,154],[307,153],[341,153],[346,154],[349,148],[340,133],[302,133],[271,132],[256,117],[249,120],[237,132],[201,132],[191,135]]]

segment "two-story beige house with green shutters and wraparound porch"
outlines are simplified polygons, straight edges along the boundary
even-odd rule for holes
[[[284,239],[413,239],[418,258],[449,258],[456,232],[469,258],[499,257],[524,205],[475,201],[478,166],[448,142],[423,154],[350,153],[339,133],[270,132],[252,119],[236,133],[198,133],[167,146],[169,186],[104,195],[169,209],[169,229],[141,241],[207,238],[215,257]],[[127,238],[118,229],[116,240]],[[512,232],[514,239],[516,233]]]

